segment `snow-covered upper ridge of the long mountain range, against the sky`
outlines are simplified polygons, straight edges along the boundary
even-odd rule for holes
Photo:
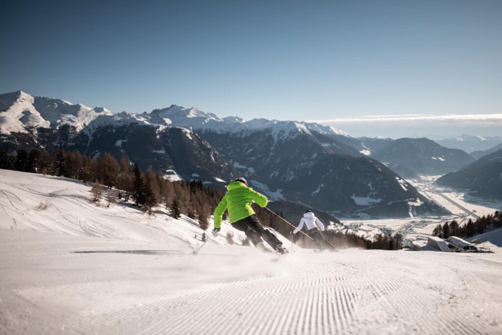
[[[350,137],[341,130],[316,123],[267,119],[244,121],[238,117],[222,119],[196,107],[185,108],[175,104],[167,108],[154,109],[151,113],[113,114],[104,107],[89,108],[80,103],[72,104],[67,100],[34,97],[23,91],[0,95],[0,131],[3,134],[13,131],[27,132],[29,127],[57,128],[65,124],[75,127],[77,131],[87,128],[87,131],[92,133],[99,126],[130,123],[201,129],[218,133],[267,130],[275,140],[298,134],[312,135],[312,132]]]

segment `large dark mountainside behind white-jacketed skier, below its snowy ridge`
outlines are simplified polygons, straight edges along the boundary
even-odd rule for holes
[[[315,136],[298,134],[275,142],[267,131],[206,131],[200,136],[274,199],[362,216],[438,210],[429,208],[428,200],[388,167],[357,152],[351,155],[335,140],[319,142]]]

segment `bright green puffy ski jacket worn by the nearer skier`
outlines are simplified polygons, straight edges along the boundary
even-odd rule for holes
[[[214,228],[221,227],[221,217],[225,209],[228,209],[228,219],[230,224],[233,224],[233,222],[255,214],[253,207],[251,207],[253,201],[261,207],[265,207],[269,202],[265,195],[247,187],[240,181],[231,182],[226,189],[228,192],[223,196],[218,206],[214,208]]]

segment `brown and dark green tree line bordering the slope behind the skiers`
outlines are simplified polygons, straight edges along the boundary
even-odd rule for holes
[[[201,180],[170,181],[162,171],[154,171],[151,167],[142,170],[138,163],[126,157],[117,161],[109,153],[90,158],[79,151],[68,151],[60,148],[52,152],[34,149],[29,153],[20,149],[17,155],[10,150],[0,149],[0,169],[22,172],[42,173],[54,176],[81,180],[92,183],[92,201],[98,202],[107,189],[108,205],[116,198],[129,202],[148,213],[153,213],[156,206],[164,206],[174,218],[184,214],[199,222],[204,231],[209,228],[209,217],[224,195],[224,191],[205,187]],[[254,204],[253,208],[259,220],[282,235],[288,237],[293,230],[281,217],[282,212],[274,215],[270,211]],[[223,218],[227,217],[225,212]],[[310,240],[293,237],[294,242],[305,247],[312,247]],[[397,250],[402,248],[402,238],[392,238],[386,235],[375,236],[367,240],[350,232],[326,231],[325,238],[338,247],[359,247],[364,249]],[[401,237],[400,235],[398,235]]]

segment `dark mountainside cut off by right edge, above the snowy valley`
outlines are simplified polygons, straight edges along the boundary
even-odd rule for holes
[[[436,183],[469,189],[476,196],[502,199],[502,149],[442,176]]]

